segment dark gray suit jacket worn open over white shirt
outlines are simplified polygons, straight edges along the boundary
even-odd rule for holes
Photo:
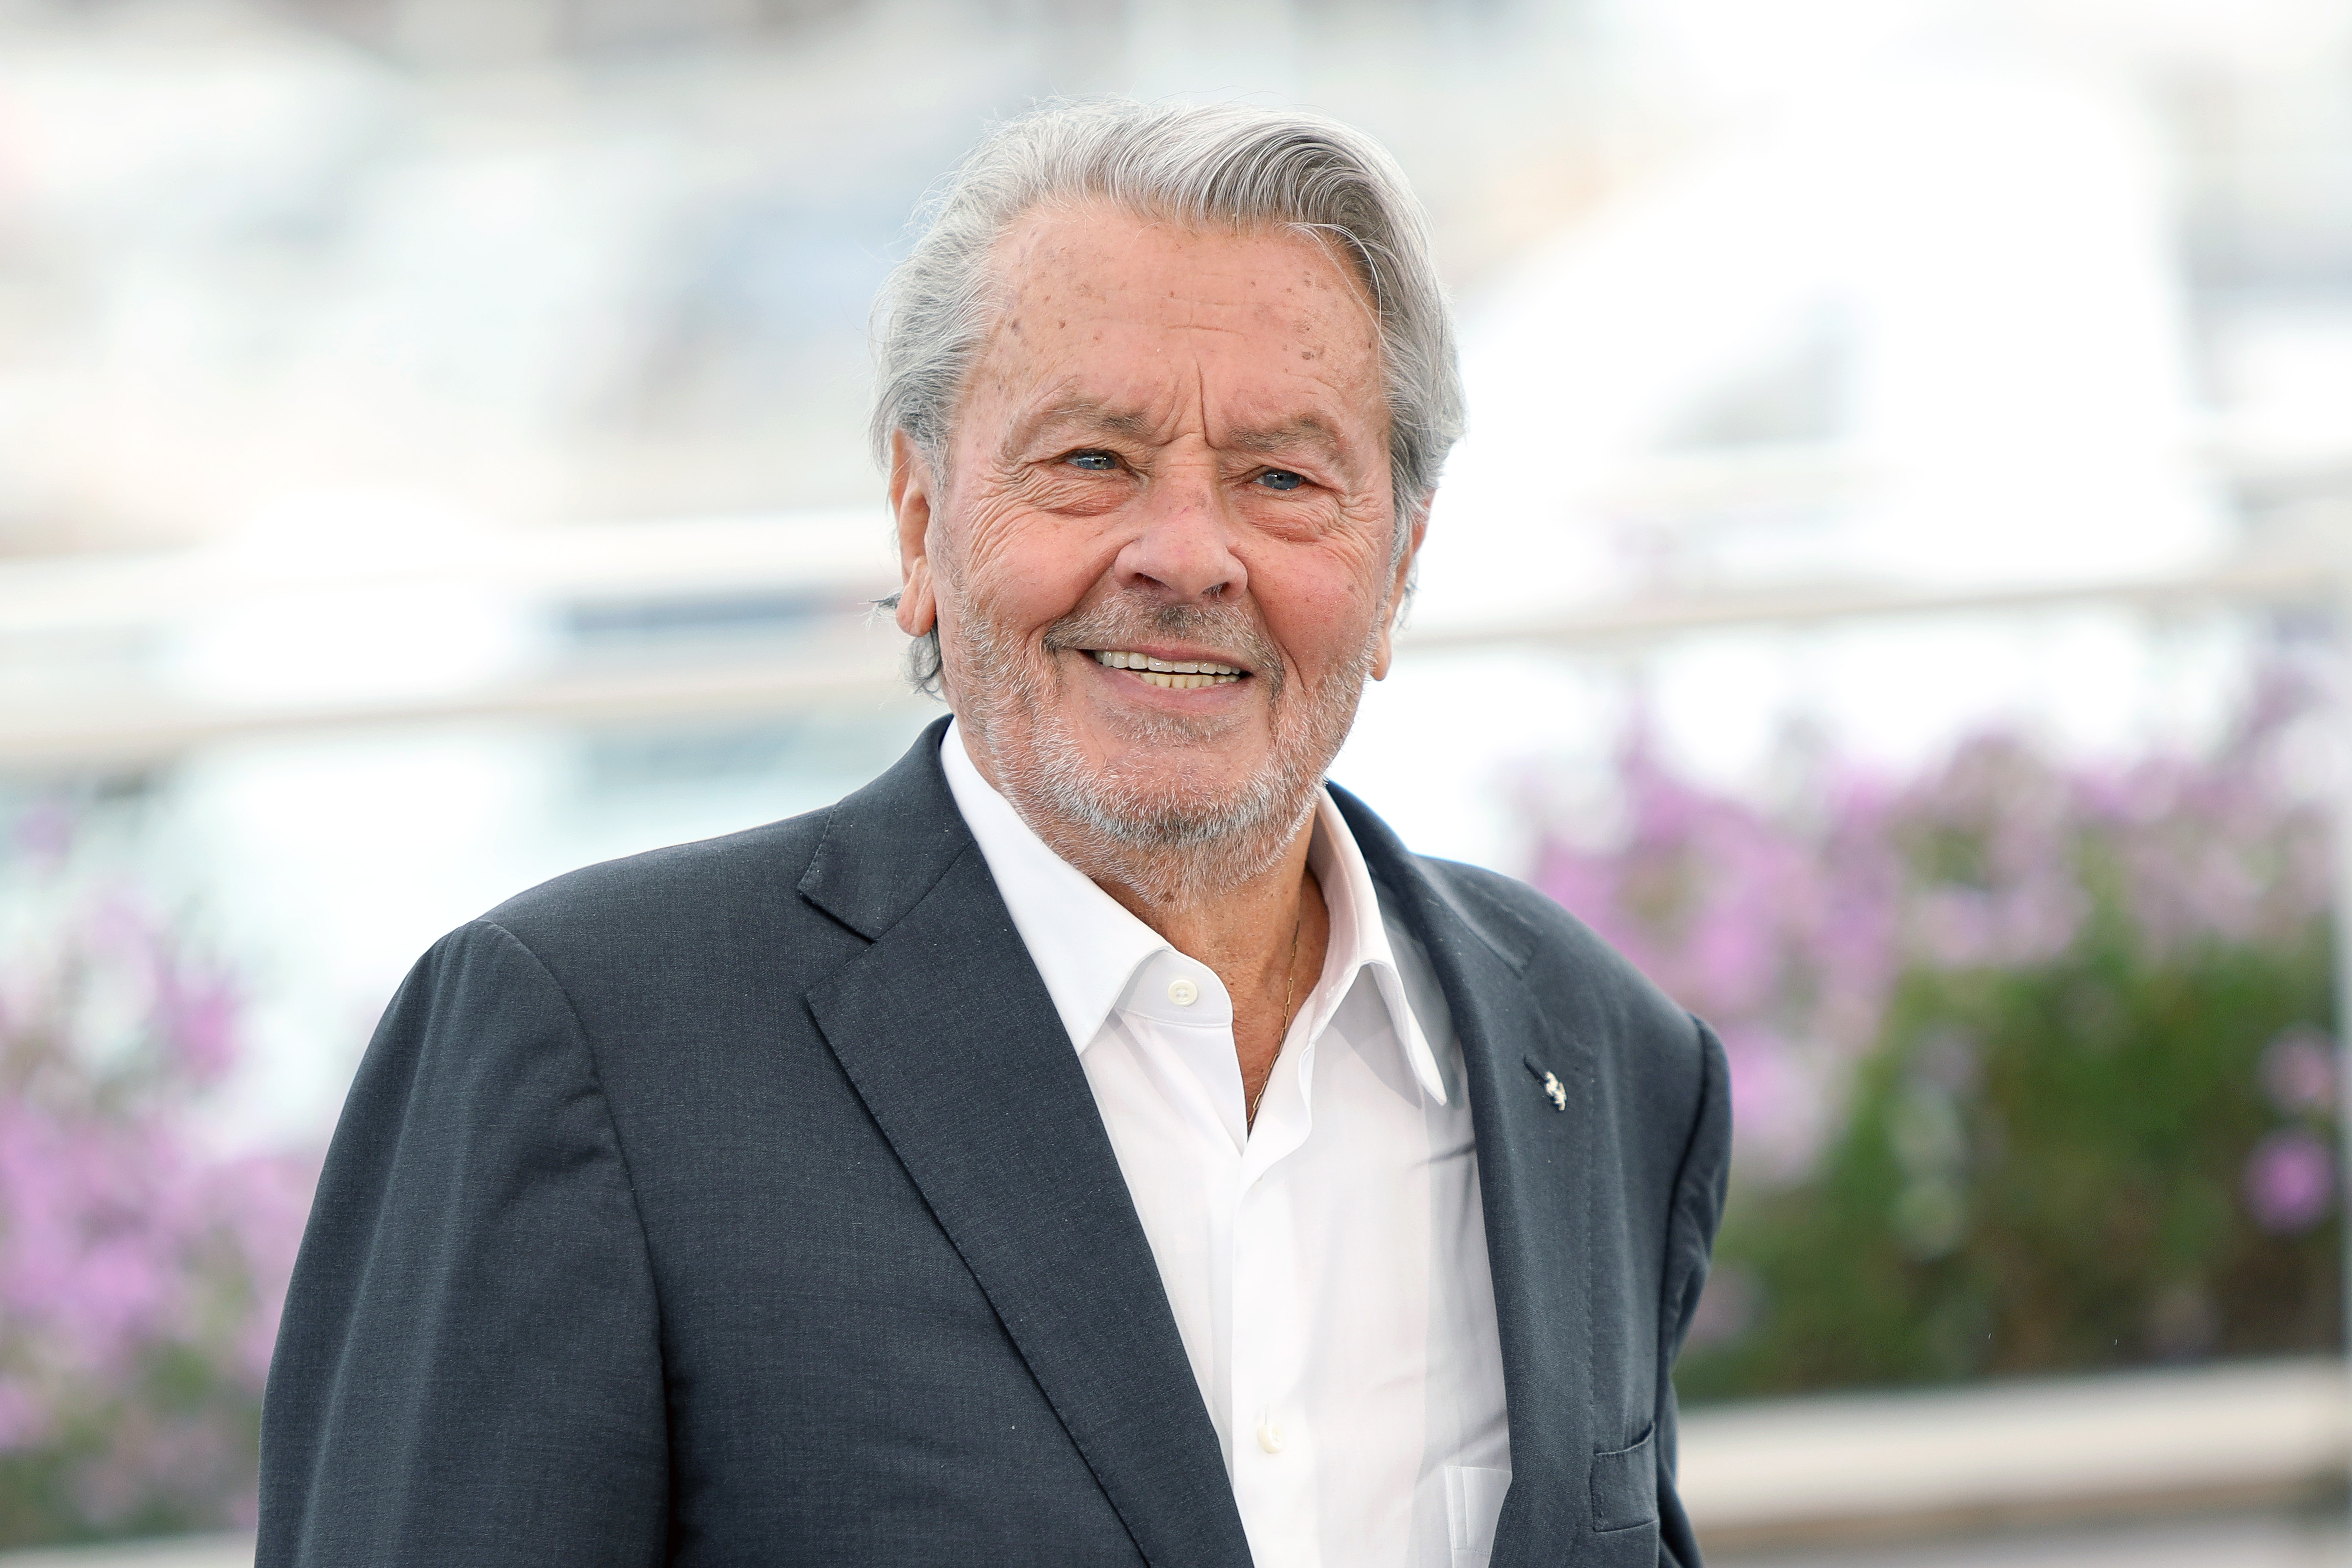
[[[938,736],[416,964],[294,1269],[261,1568],[1249,1563]],[[1722,1048],[1559,905],[1338,802],[1468,1060],[1494,1563],[1696,1563],[1668,1368],[1722,1208]]]

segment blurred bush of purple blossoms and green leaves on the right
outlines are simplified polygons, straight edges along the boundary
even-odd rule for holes
[[[1976,736],[1778,804],[1637,733],[1538,882],[1715,1025],[1733,1192],[1686,1399],[2340,1340],[2328,830],[2281,668],[2206,755]]]

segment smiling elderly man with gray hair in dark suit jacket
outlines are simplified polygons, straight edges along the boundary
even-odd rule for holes
[[[1324,785],[1461,404],[1392,162],[1014,120],[880,353],[953,717],[426,954],[287,1302],[263,1568],[1696,1563],[1722,1051]]]

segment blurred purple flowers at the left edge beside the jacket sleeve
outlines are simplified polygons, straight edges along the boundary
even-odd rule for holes
[[[122,889],[47,938],[0,954],[0,1453],[101,1432],[52,1455],[82,1526],[249,1519],[245,1422],[318,1166],[207,1157],[186,1119],[238,1058],[228,971]],[[195,1406],[155,1382],[191,1361]]]

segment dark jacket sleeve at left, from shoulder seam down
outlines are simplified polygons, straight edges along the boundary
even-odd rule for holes
[[[659,1312],[553,976],[477,922],[386,1009],[261,1410],[259,1568],[661,1563]]]

